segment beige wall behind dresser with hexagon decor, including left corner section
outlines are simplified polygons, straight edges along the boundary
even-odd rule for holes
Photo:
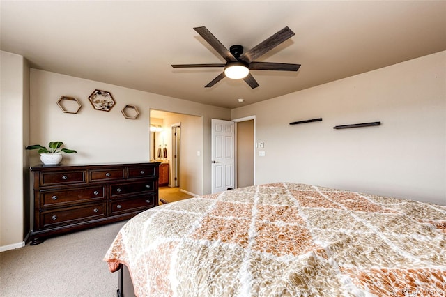
[[[22,56],[1,52],[0,250],[22,246],[24,233],[29,231],[25,185],[29,181],[29,166],[38,165],[40,160],[36,151],[24,151],[24,147],[61,140],[67,148],[79,152],[66,155],[66,164],[146,162],[150,109],[202,117],[201,161],[195,163],[201,168],[194,171],[201,188],[187,191],[197,195],[210,192],[210,166],[203,162],[210,160],[210,119],[230,119],[229,109],[30,70],[27,65]],[[95,89],[112,93],[116,105],[111,111],[91,107],[87,98]],[[56,105],[61,96],[77,98],[82,108],[77,114],[63,113]],[[123,117],[121,109],[125,105],[137,106],[137,119]]]

